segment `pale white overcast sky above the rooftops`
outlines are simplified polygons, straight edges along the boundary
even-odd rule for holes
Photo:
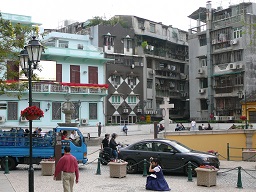
[[[247,0],[245,2],[255,2]],[[187,30],[195,26],[187,16],[206,0],[0,0],[0,11],[27,15],[44,28],[58,28],[61,21],[86,21],[94,16],[109,19],[114,15],[135,15],[165,25]],[[243,0],[216,0],[212,7],[228,7]]]

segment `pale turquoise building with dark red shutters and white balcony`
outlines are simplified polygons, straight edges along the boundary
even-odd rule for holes
[[[64,123],[62,108],[66,101],[74,106],[73,123],[80,127],[95,126],[99,122],[104,125],[103,99],[108,94],[108,85],[104,66],[107,59],[102,52],[90,44],[88,35],[45,31],[42,43],[45,51],[39,68],[33,71],[39,80],[32,84],[32,102],[44,111],[44,117],[34,120],[33,126],[53,128],[57,123]],[[6,80],[13,79],[7,77]],[[27,78],[20,76],[15,81],[26,83]],[[28,90],[22,92],[20,100],[16,92],[6,90],[6,94],[1,95],[2,127],[28,126],[28,121],[20,116],[20,111],[28,107]]]

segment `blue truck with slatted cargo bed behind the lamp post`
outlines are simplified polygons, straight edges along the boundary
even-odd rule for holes
[[[24,128],[0,129],[0,159],[1,167],[5,169],[5,157],[8,156],[9,169],[15,169],[18,164],[29,164],[29,133]],[[55,152],[56,135],[63,131],[69,134],[75,131],[76,137],[73,140],[61,140],[61,150],[64,154],[64,147],[70,146],[71,153],[79,163],[85,164],[87,159],[87,145],[83,134],[77,127],[56,127],[47,132],[34,134],[32,137],[32,161],[33,164],[40,164],[42,159],[53,159]]]

